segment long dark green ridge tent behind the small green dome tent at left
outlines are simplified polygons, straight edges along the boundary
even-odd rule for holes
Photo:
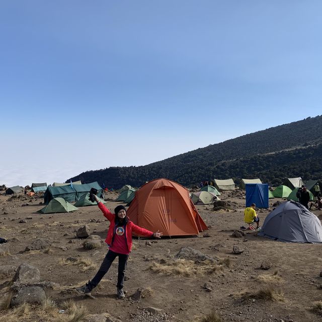
[[[86,185],[67,185],[58,187],[48,187],[44,194],[45,204],[51,199],[60,197],[64,198],[68,202],[78,201],[83,195],[90,192],[91,188],[95,188],[98,191],[97,196],[102,197],[103,189],[97,182],[88,183]]]

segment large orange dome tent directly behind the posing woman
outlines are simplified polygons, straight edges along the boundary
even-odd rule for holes
[[[136,191],[127,215],[135,223],[165,236],[198,235],[208,229],[189,191],[168,179],[150,181]]]

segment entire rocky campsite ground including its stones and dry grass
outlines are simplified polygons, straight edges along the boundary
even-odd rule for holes
[[[116,197],[106,195],[111,210],[120,204]],[[95,299],[73,290],[95,275],[107,252],[102,239],[108,222],[97,206],[44,215],[36,212],[43,207],[41,195],[0,195],[0,237],[8,239],[0,244],[0,321],[189,322],[207,316],[204,321],[320,321],[322,302],[320,308],[313,302],[322,300],[321,245],[234,233],[244,224],[244,192],[224,192],[220,198],[226,203],[217,210],[197,206],[209,227],[199,237],[135,239],[126,299],[118,300],[117,263],[92,292]],[[269,210],[258,211],[262,222],[277,200],[270,200]],[[85,225],[92,237],[81,238],[79,232],[77,237]],[[188,256],[182,256],[183,248]],[[37,289],[39,301],[47,298],[45,309],[34,304],[18,309],[34,291],[26,287]],[[68,313],[72,305],[77,318]]]

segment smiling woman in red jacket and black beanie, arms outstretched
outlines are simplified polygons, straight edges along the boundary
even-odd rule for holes
[[[135,225],[126,216],[126,209],[124,206],[119,205],[114,209],[115,214],[112,214],[102,202],[99,202],[97,197],[94,198],[102,210],[104,216],[110,221],[110,227],[107,232],[107,237],[105,243],[109,246],[109,251],[107,252],[100,269],[94,276],[94,278],[87,284],[77,287],[75,290],[81,294],[89,294],[92,289],[98,285],[103,276],[108,272],[113,261],[118,257],[118,277],[117,277],[117,296],[118,298],[125,298],[123,291],[124,274],[127,259],[132,249],[132,231],[138,235],[150,236],[155,238],[161,238],[163,232],[152,232],[150,230],[141,228]]]

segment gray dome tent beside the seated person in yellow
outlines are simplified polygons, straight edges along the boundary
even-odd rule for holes
[[[286,201],[266,217],[258,235],[292,243],[322,243],[322,225],[303,205]]]

